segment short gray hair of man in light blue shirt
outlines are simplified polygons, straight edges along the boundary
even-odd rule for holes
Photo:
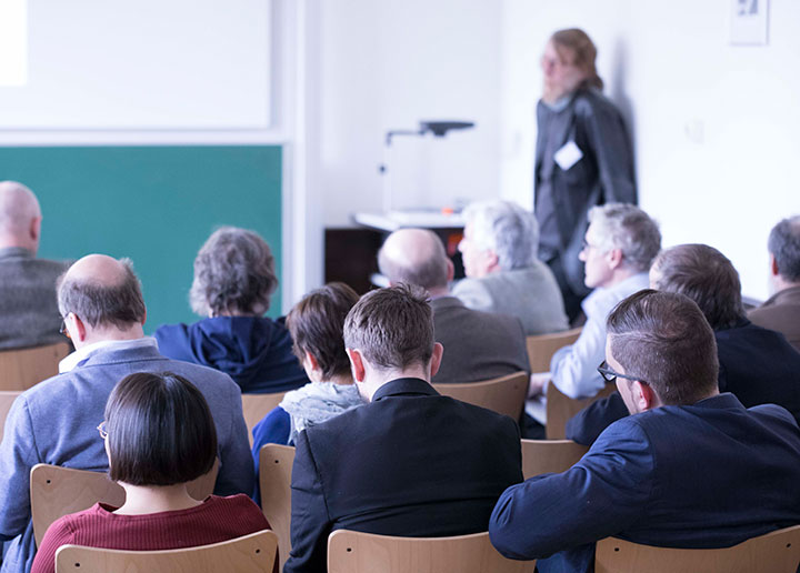
[[[594,225],[606,252],[622,251],[622,262],[633,271],[646,272],[661,249],[658,223],[644,211],[629,203],[606,203],[589,210],[589,223]]]

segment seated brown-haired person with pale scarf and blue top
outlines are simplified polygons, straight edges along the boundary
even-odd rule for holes
[[[344,318],[358,299],[347,284],[332,282],[309,292],[289,312],[287,326],[294,341],[294,354],[311,382],[287,392],[280,405],[253,428],[257,475],[263,444],[294,445],[306,428],[363,403],[353,384],[342,339]]]

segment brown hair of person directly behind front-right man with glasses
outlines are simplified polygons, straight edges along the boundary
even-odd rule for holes
[[[734,326],[744,316],[739,273],[728,258],[708,244],[679,244],[661,251],[651,277],[660,291],[693,300],[714,330]]]

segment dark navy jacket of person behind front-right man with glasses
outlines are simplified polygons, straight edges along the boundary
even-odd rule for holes
[[[714,338],[720,392],[736,394],[746,408],[782,405],[800,423],[800,352],[783,334],[742,319],[732,329],[714,331]],[[567,422],[567,438],[591,445],[606,428],[627,415],[628,409],[614,392]]]

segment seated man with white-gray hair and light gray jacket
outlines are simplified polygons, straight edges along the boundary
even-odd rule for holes
[[[563,299],[550,268],[537,259],[539,227],[532,213],[507,201],[464,212],[459,244],[467,278],[453,296],[470,309],[517,316],[527,335],[567,330]]]

